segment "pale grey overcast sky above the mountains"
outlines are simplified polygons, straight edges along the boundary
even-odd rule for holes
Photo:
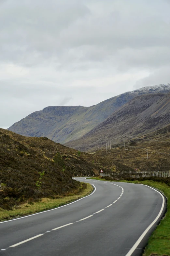
[[[170,82],[170,0],[0,0],[0,127]]]

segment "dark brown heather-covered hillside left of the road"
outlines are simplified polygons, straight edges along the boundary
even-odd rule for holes
[[[57,144],[48,138],[24,137],[0,128],[0,207],[12,209],[25,201],[76,193],[81,185],[72,175],[99,174],[102,163],[93,155]],[[116,171],[130,169],[112,162]],[[104,167],[107,169],[107,166]],[[41,179],[40,179],[41,178]]]

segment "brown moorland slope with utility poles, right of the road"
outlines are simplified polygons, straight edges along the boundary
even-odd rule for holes
[[[108,163],[114,159],[133,170],[137,168],[138,171],[170,171],[170,125],[127,141],[125,149],[123,145],[115,145],[110,154],[106,154],[106,149],[102,149],[93,156],[94,159],[105,156]]]

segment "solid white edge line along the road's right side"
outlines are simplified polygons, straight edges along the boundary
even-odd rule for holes
[[[131,183],[132,184],[132,183]],[[141,236],[138,238],[138,240],[136,241],[136,243],[133,245],[133,247],[130,249],[130,251],[128,251],[128,253],[125,255],[125,256],[131,256],[132,253],[135,251],[135,249],[138,247],[138,245],[140,244],[140,242],[143,240],[143,238],[145,237],[145,235],[148,233],[148,231],[150,230],[150,228],[155,224],[155,222],[159,219],[159,217],[161,216],[162,212],[163,212],[163,208],[164,208],[164,204],[165,204],[165,199],[163,197],[163,195],[157,191],[156,189],[148,186],[148,185],[144,185],[144,184],[140,184],[140,185],[143,185],[143,186],[147,186],[153,190],[155,190],[156,192],[158,192],[161,196],[162,196],[162,199],[163,199],[163,202],[162,202],[162,207],[161,207],[161,210],[159,212],[159,214],[157,215],[157,217],[154,219],[154,221],[149,225],[149,227],[141,234]]]

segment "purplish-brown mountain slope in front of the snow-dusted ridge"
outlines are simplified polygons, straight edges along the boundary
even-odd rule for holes
[[[144,94],[135,97],[119,110],[112,113],[104,122],[86,133],[81,139],[71,141],[66,145],[77,148],[84,146],[85,151],[96,150],[106,144],[139,137],[158,130],[170,124],[170,93]]]

